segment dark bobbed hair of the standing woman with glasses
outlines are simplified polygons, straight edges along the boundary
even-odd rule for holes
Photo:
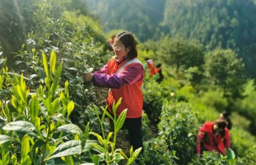
[[[136,48],[135,39],[131,33],[122,32],[117,35],[116,40],[119,40],[120,42],[122,42],[122,44],[125,46],[125,49],[130,47],[130,51],[128,52],[128,59],[137,57],[137,48]]]

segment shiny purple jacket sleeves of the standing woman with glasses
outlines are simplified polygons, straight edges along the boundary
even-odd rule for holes
[[[106,65],[105,65],[106,66]],[[128,66],[122,73],[107,74],[107,66],[94,72],[93,84],[96,87],[106,87],[119,89],[123,85],[133,84],[143,77],[144,69],[141,64]],[[106,70],[104,70],[106,69]]]

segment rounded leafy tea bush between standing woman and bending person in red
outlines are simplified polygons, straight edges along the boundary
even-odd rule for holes
[[[175,151],[175,162],[188,164],[195,156],[199,128],[196,110],[187,103],[166,102],[160,119],[159,136],[166,140],[170,151]]]

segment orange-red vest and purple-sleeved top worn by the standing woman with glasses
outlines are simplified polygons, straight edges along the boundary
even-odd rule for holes
[[[108,109],[112,113],[113,101],[122,97],[117,116],[128,109],[127,118],[142,116],[143,95],[141,91],[144,69],[139,60],[125,60],[119,63],[111,59],[100,71],[94,73],[93,82],[97,87],[109,87]]]

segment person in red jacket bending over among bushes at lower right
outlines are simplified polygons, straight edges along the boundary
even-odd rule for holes
[[[215,151],[226,155],[225,148],[230,151],[230,133],[226,128],[226,121],[218,119],[215,122],[205,122],[198,133],[197,154],[202,154],[203,151]]]

